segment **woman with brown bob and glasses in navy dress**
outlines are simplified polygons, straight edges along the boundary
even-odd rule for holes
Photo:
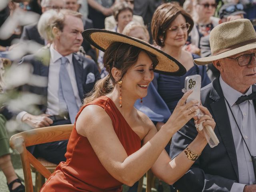
[[[173,112],[183,95],[181,90],[184,88],[186,76],[200,74],[202,87],[210,83],[205,66],[197,66],[193,62],[193,59],[198,56],[183,49],[193,26],[191,16],[179,5],[172,3],[160,5],[152,18],[151,28],[155,44],[160,50],[178,60],[187,70],[187,73],[181,77],[155,74],[153,83],[170,112]],[[163,122],[158,122],[156,126],[160,128],[163,124]]]

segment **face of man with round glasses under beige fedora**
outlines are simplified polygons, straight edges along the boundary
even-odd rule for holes
[[[237,58],[244,54],[251,54],[256,52],[256,49],[248,50],[233,56],[231,58]],[[220,59],[220,66],[214,66],[220,71],[222,79],[235,90],[244,93],[248,88],[256,83],[256,58],[253,56],[251,62],[246,66],[239,66],[236,59],[224,58]]]

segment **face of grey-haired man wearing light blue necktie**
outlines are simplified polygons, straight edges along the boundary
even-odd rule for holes
[[[79,51],[82,44],[82,32],[84,30],[83,22],[80,18],[66,15],[64,20],[64,28],[58,32],[58,36],[54,40],[57,50],[62,55],[68,55]]]

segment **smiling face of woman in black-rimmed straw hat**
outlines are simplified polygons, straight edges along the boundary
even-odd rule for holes
[[[122,93],[127,92],[135,99],[145,97],[148,93],[148,85],[153,78],[152,60],[144,51],[141,51],[137,62],[127,70],[122,78]]]

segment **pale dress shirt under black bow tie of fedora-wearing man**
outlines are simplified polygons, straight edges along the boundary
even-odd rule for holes
[[[236,105],[236,100],[244,95],[237,90],[234,90],[228,84],[226,84],[220,76],[220,86],[222,88],[224,97],[228,101],[226,107],[228,110],[228,117],[230,120],[230,126],[234,139],[234,145],[236,148],[236,156],[238,162],[238,174],[239,183],[234,183],[230,192],[243,192],[245,184],[250,185],[255,182],[254,169],[252,166],[252,159],[244,144],[242,136],[238,130],[236,122],[242,132],[242,135],[248,145],[248,148],[252,155],[256,156],[256,113],[252,100],[246,100],[245,102]],[[252,93],[252,86],[246,92],[246,95]],[[232,113],[228,107],[228,104],[236,118],[236,122],[232,116]]]

